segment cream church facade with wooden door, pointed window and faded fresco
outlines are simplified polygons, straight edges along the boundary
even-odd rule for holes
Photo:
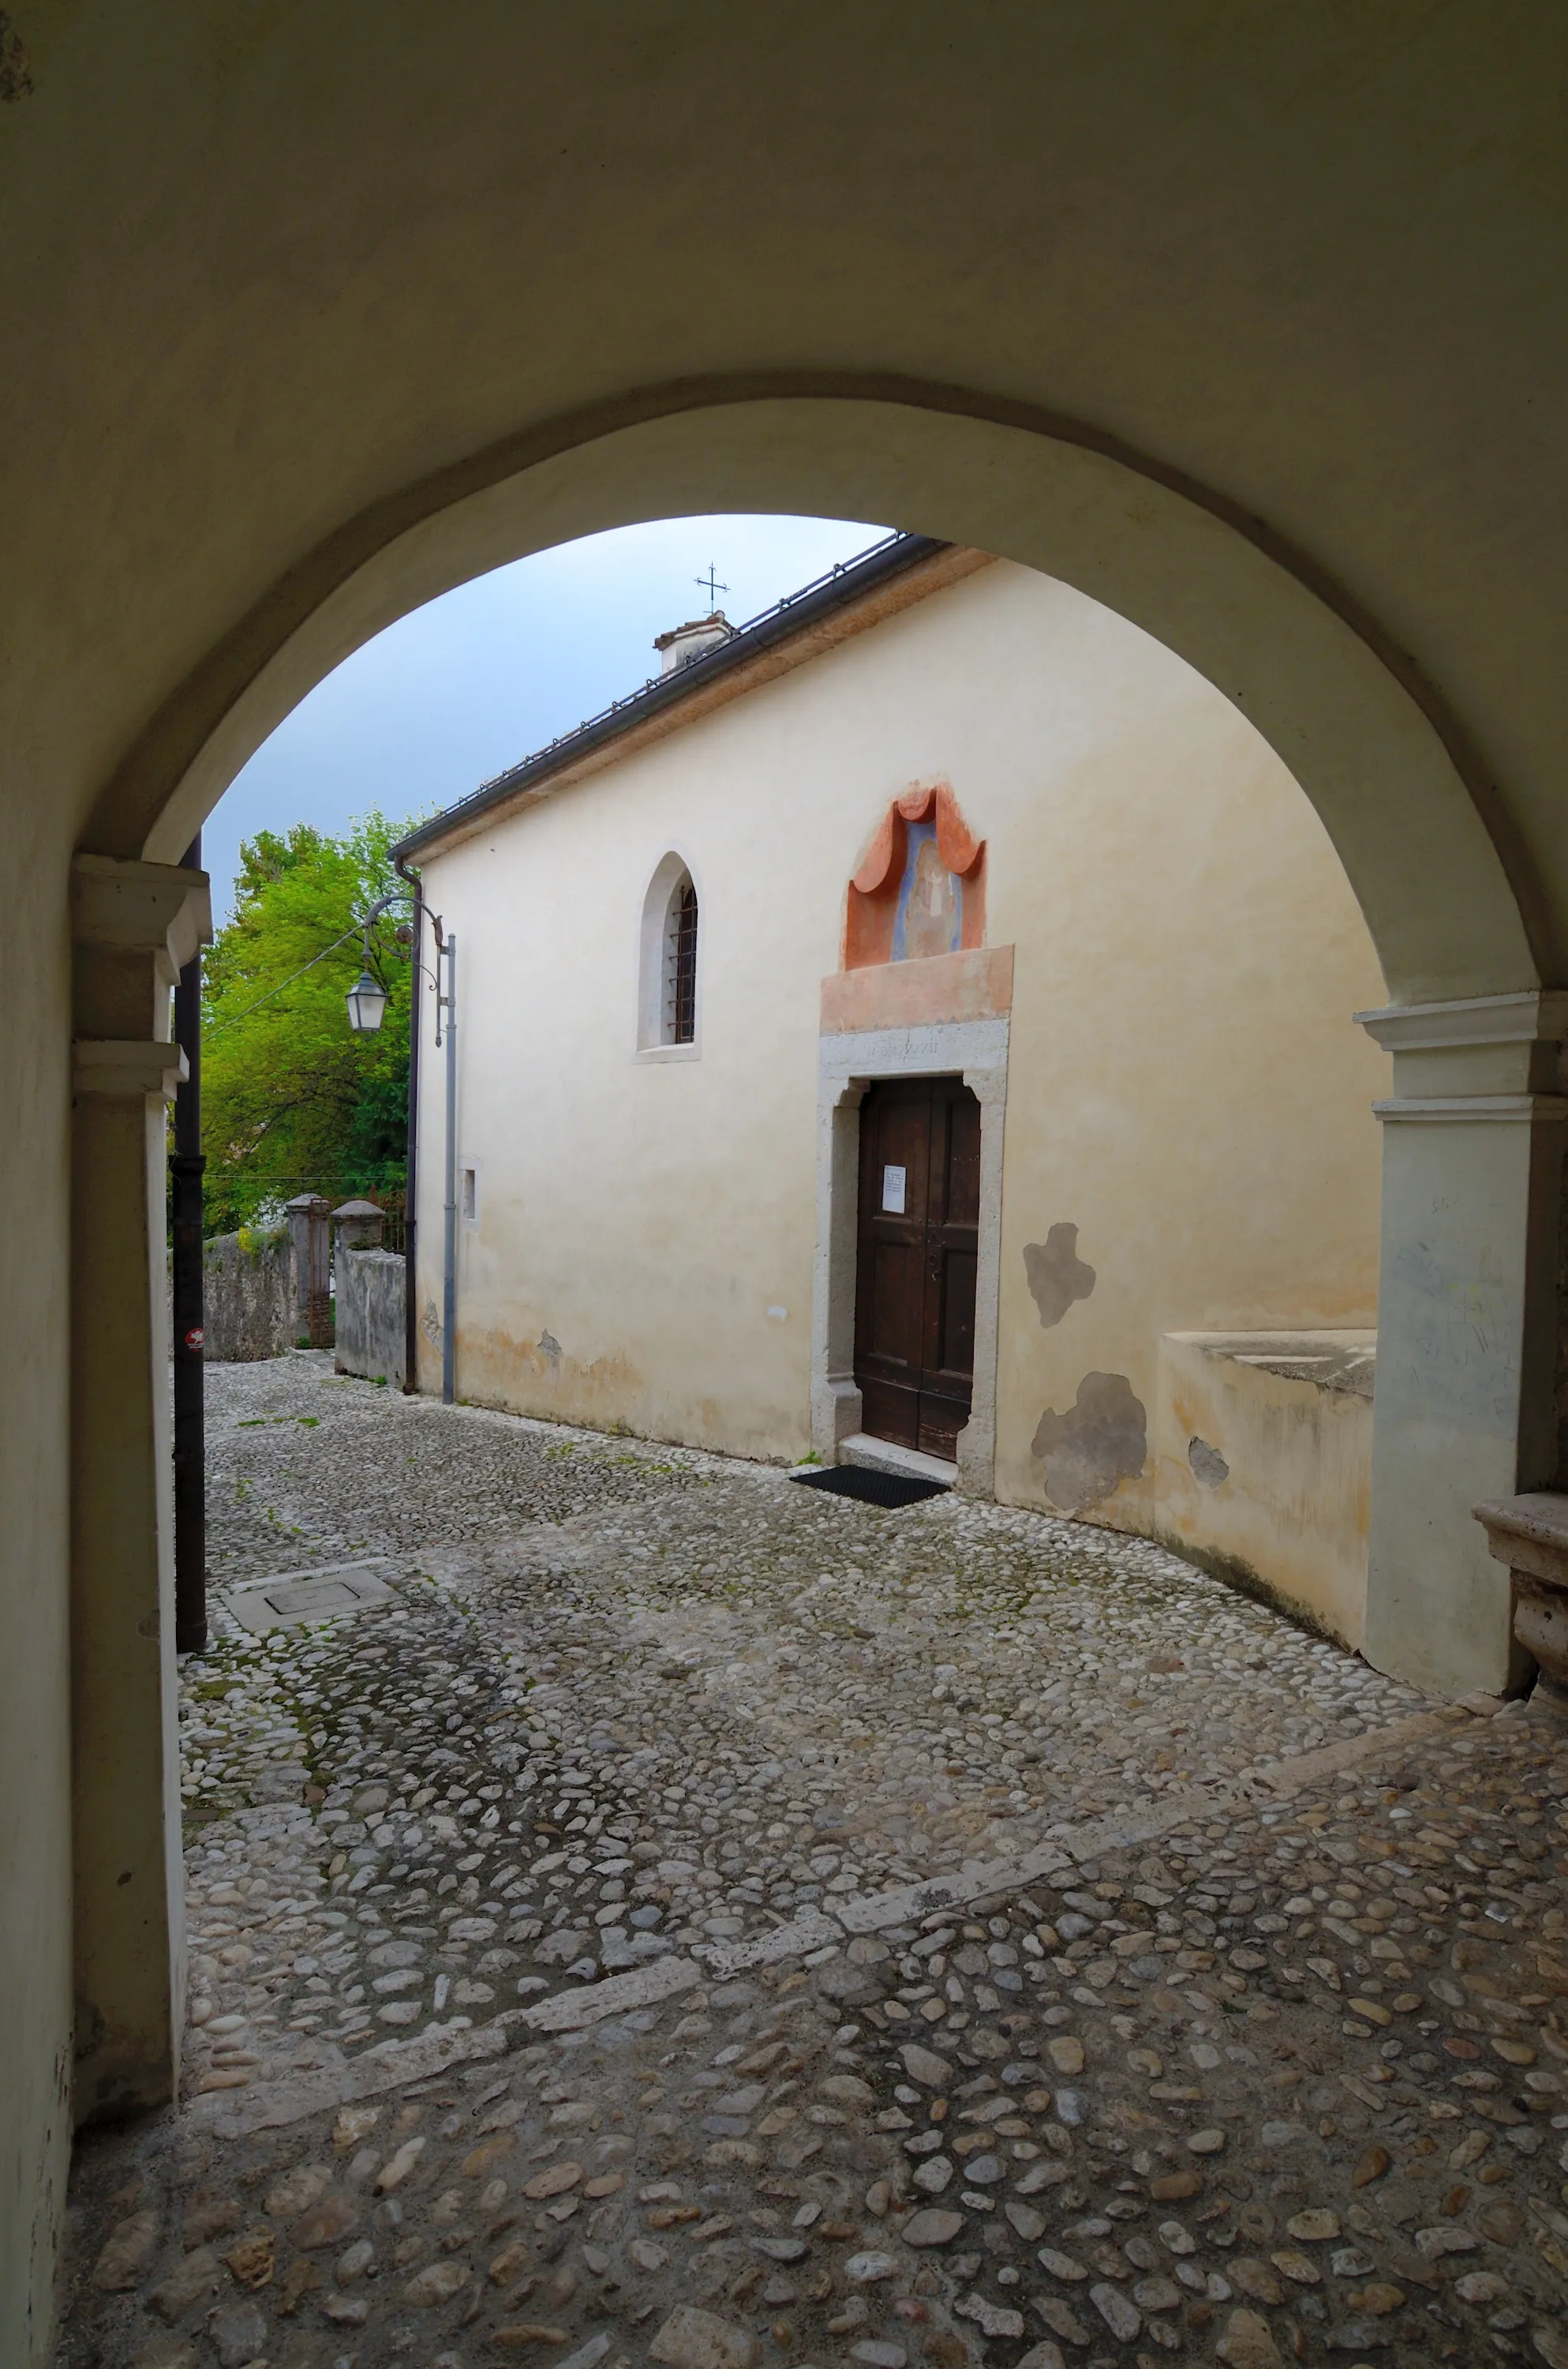
[[[952,1478],[1357,1642],[1383,981],[1281,760],[924,538],[661,654],[405,843],[460,943],[457,1395]]]

